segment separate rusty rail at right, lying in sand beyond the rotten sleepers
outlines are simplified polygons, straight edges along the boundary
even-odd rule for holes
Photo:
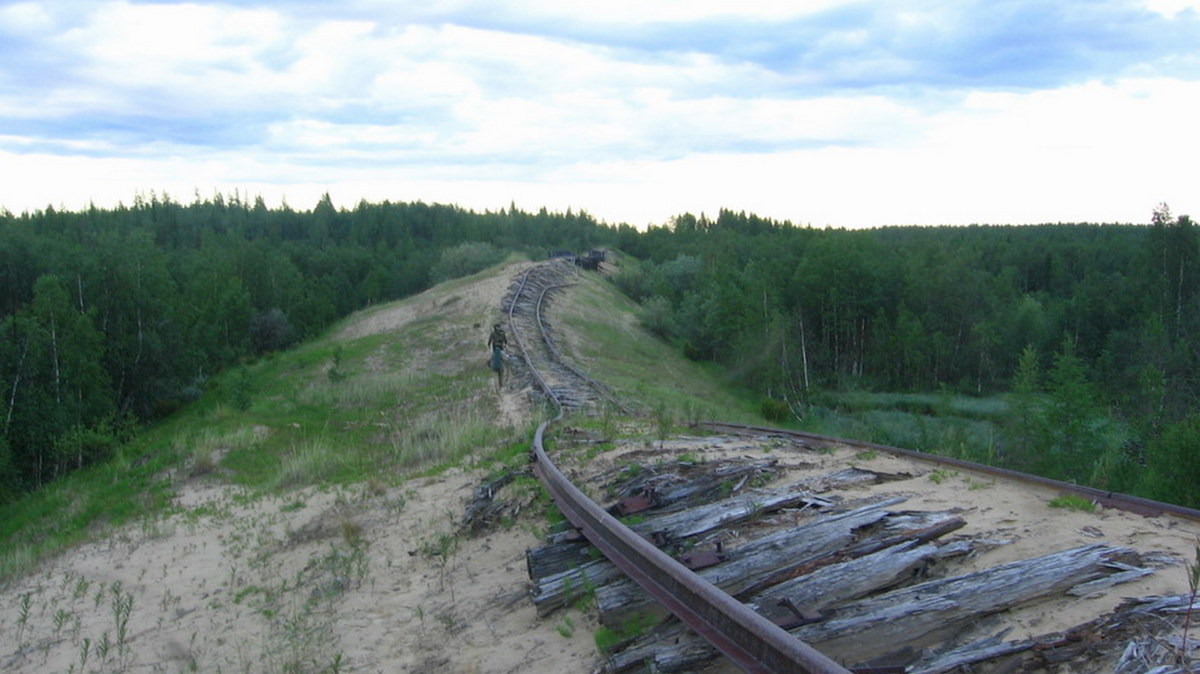
[[[700,423],[700,426],[712,431],[724,431],[733,433],[787,435],[791,438],[799,438],[802,440],[806,440],[814,445],[827,446],[827,447],[834,445],[845,445],[850,447],[860,447],[864,450],[877,450],[881,452],[887,452],[895,456],[902,456],[922,461],[925,463],[949,465],[964,470],[983,473],[985,475],[995,475],[996,477],[1003,477],[1006,480],[1014,480],[1018,482],[1026,482],[1030,485],[1038,485],[1042,487],[1057,489],[1060,492],[1075,494],[1085,499],[1096,501],[1097,504],[1104,507],[1123,510],[1145,517],[1158,517],[1159,514],[1166,512],[1178,517],[1186,517],[1188,519],[1200,520],[1200,510],[1184,507],[1175,504],[1154,501],[1151,499],[1144,499],[1141,497],[1134,497],[1132,494],[1122,494],[1120,492],[1106,492],[1104,489],[1097,489],[1094,487],[1087,487],[1084,485],[1072,485],[1070,482],[1051,480],[1050,477],[1042,477],[1040,475],[1030,475],[1028,473],[1020,473],[1018,470],[1010,470],[1007,468],[998,468],[995,465],[974,463],[961,458],[930,455],[926,452],[918,452],[916,450],[905,450],[901,447],[893,447],[890,445],[881,445],[878,443],[868,443],[865,440],[850,440],[846,438],[835,438],[833,435],[821,435],[818,433],[809,433],[806,431],[788,431],[782,428],[770,428],[767,426],[749,426],[744,423],[725,423],[718,421],[703,422]]]

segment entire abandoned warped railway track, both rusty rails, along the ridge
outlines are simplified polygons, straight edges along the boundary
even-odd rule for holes
[[[638,534],[622,524],[572,485],[546,453],[544,444],[546,429],[564,416],[587,413],[601,404],[629,411],[612,392],[565,363],[551,337],[544,312],[546,300],[556,290],[566,285],[574,273],[576,273],[574,267],[565,264],[535,265],[515,283],[515,290],[506,307],[514,341],[529,366],[532,378],[559,409],[558,417],[538,428],[532,450],[534,471],[546,486],[559,510],[620,571],[743,670],[814,674],[850,672],[817,649],[808,645],[796,633],[784,630],[776,622],[752,610],[742,601],[733,598],[726,591],[704,580],[696,572],[664,553],[643,537],[644,531]],[[1004,480],[1051,487],[1082,495],[1106,507],[1116,507],[1144,516],[1170,513],[1200,522],[1200,511],[1192,508],[1100,492],[898,447],[764,427],[728,423],[703,426],[709,431],[726,434],[787,437],[792,441],[810,447],[823,449],[838,445],[882,451],[910,459],[984,473]],[[678,638],[676,642],[678,643]]]

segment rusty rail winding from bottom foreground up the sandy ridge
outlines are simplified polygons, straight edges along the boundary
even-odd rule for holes
[[[584,495],[558,470],[558,467],[546,455],[544,437],[551,423],[563,419],[565,408],[530,362],[520,331],[516,330],[514,323],[514,312],[521,294],[524,291],[528,272],[529,270],[526,270],[522,276],[512,303],[509,306],[509,326],[514,332],[517,347],[524,354],[535,381],[558,407],[558,416],[542,422],[534,433],[532,451],[534,473],[546,486],[558,508],[617,567],[745,672],[754,674],[848,674],[850,670],[842,666],[788,634],[774,622],[696,576],[683,564],[635,534]],[[565,365],[550,341],[541,320],[541,305],[548,290],[550,288],[542,289],[538,297],[536,325],[552,357]],[[590,378],[578,373],[575,368],[570,369],[592,383]],[[594,383],[592,384],[594,385]],[[613,399],[606,390],[596,390],[605,397]],[[618,402],[618,404],[620,403]],[[620,407],[624,408],[624,405]]]

